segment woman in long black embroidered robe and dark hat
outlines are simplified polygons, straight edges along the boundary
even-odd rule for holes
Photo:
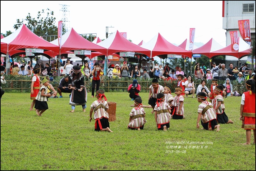
[[[72,90],[69,100],[72,109],[70,112],[74,112],[75,106],[79,105],[82,106],[83,112],[85,112],[87,91],[84,86],[84,74],[81,72],[80,66],[73,66],[73,72],[68,76],[68,88]]]

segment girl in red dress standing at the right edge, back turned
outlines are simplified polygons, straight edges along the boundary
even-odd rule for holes
[[[253,144],[255,144],[255,80],[247,80],[245,84],[248,91],[242,95],[240,120],[242,128],[246,130],[246,143],[243,145],[249,145],[251,144],[251,130],[253,130]]]

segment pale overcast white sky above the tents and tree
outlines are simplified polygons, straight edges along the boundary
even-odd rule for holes
[[[205,44],[213,38],[226,47],[222,1],[1,1],[1,33],[14,32],[17,19],[28,13],[36,17],[47,8],[54,12],[57,26],[63,16],[60,4],[67,5],[67,25],[79,34],[96,33],[105,39],[108,26],[109,33],[127,32],[135,44],[160,33],[180,45],[195,28],[194,42]]]

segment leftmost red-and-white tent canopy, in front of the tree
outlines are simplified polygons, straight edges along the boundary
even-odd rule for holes
[[[54,52],[59,51],[59,47],[53,45],[50,42],[38,37],[31,30],[27,28],[25,24],[20,26],[15,32],[10,34],[9,36],[1,39],[1,51],[2,42],[7,43],[6,51],[10,52],[15,49],[24,49],[24,48],[38,48],[45,50],[52,50]]]

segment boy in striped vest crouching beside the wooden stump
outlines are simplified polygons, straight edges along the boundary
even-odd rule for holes
[[[108,103],[107,98],[104,95],[104,90],[96,91],[96,98],[92,105],[90,106],[90,122],[93,119],[92,114],[94,111],[94,120],[95,120],[95,128],[94,131],[108,131],[113,133],[113,131],[109,128],[108,118],[109,115],[107,113],[108,110]]]

